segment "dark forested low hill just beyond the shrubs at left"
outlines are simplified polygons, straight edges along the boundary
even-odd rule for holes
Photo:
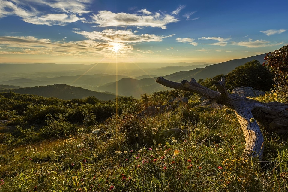
[[[3,90],[0,90],[3,92]],[[47,86],[39,86],[39,87],[25,87],[13,90],[5,90],[12,91],[14,93],[20,94],[31,94],[38,95],[44,97],[56,97],[58,99],[70,100],[70,99],[83,99],[88,96],[94,96],[99,100],[113,100],[116,98],[116,95],[113,93],[104,93],[98,91],[91,91],[88,89],[83,89],[81,87],[73,87],[66,84],[54,84]]]

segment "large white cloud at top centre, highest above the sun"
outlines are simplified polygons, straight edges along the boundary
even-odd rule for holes
[[[146,10],[147,11],[147,10]],[[146,12],[144,11],[144,12]],[[142,11],[143,13],[143,11]],[[149,12],[150,13],[150,12]],[[179,19],[166,13],[155,14],[130,14],[113,13],[111,11],[99,11],[91,16],[92,21],[87,23],[99,24],[98,27],[113,26],[137,26],[137,27],[160,27],[167,29],[167,24],[178,22]]]

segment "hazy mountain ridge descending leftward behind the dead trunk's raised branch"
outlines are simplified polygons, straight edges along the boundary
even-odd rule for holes
[[[256,55],[256,56],[247,57],[243,59],[234,59],[234,60],[230,60],[230,61],[226,61],[226,62],[214,64],[214,65],[209,65],[209,66],[206,66],[205,68],[197,68],[197,69],[193,69],[190,71],[179,71],[170,75],[165,75],[163,77],[170,81],[175,81],[175,82],[181,82],[184,79],[186,79],[187,81],[190,81],[191,78],[196,79],[196,81],[198,81],[199,79],[213,78],[214,76],[220,75],[220,74],[226,75],[227,73],[229,73],[236,67],[244,65],[245,63],[252,61],[253,59],[259,60],[260,62],[264,62],[265,56],[266,54],[261,54],[261,55]],[[132,95],[136,98],[140,98],[141,94],[143,93],[152,94],[160,90],[171,90],[168,87],[165,87],[161,84],[156,83],[155,82],[156,79],[157,79],[156,77],[140,79],[137,81],[131,78],[121,79],[117,82],[118,93],[123,96]],[[116,82],[100,86],[99,90],[115,93]]]

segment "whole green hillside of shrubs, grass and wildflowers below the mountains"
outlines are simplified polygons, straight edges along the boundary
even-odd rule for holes
[[[188,104],[137,115],[174,96]],[[243,157],[232,109],[193,108],[199,99],[179,90],[117,102],[0,93],[0,118],[10,120],[0,128],[0,191],[288,191],[287,137],[262,129],[263,160]]]

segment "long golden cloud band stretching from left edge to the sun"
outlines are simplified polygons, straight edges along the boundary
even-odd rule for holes
[[[114,44],[113,44],[114,43]],[[1,36],[0,45],[10,47],[10,51],[0,51],[0,54],[34,54],[34,55],[54,55],[54,56],[105,56],[112,52],[115,42],[97,42],[92,40],[84,41],[51,41],[49,39],[38,39],[32,36],[12,37]],[[132,46],[117,43],[121,47],[121,53],[131,53]]]

